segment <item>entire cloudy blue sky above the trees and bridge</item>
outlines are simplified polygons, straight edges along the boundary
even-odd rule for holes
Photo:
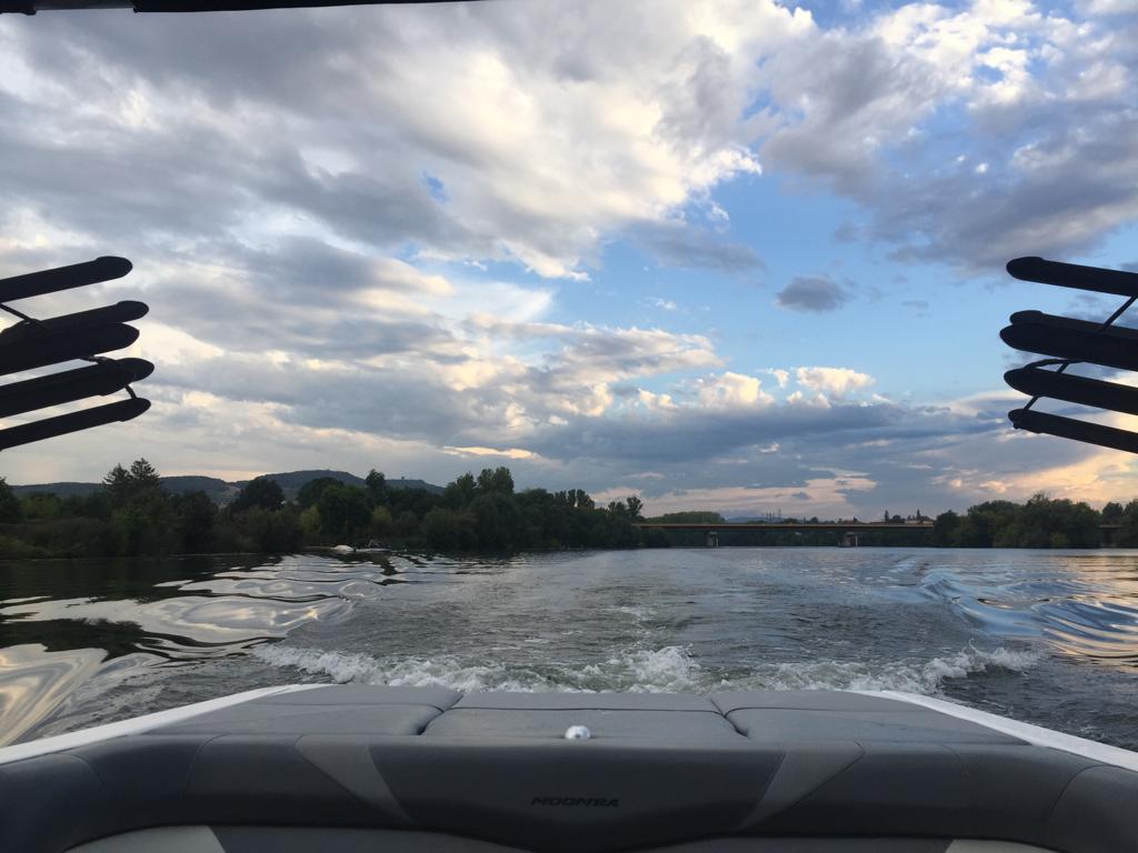
[[[1012,430],[998,337],[1116,307],[1004,264],[1138,264],[1136,93],[1136,0],[5,16],[0,276],[130,258],[17,307],[142,299],[157,368],[147,414],[0,475],[1138,497],[1130,455]]]

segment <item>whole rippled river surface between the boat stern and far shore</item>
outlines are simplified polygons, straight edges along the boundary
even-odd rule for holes
[[[1138,552],[0,562],[0,744],[319,681],[896,689],[1138,748]]]

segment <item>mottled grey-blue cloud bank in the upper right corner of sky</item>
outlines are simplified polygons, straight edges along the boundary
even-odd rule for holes
[[[765,169],[853,199],[898,258],[1086,251],[1138,216],[1138,19],[1116,6],[907,5],[799,33],[762,66]]]

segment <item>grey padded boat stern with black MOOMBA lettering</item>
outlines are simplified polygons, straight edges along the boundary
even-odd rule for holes
[[[14,851],[1138,850],[1138,772],[852,693],[327,686],[13,755]]]

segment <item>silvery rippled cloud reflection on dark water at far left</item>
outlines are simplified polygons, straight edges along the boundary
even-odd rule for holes
[[[71,566],[36,569],[38,582],[50,585],[56,574],[61,591],[75,590]],[[0,648],[0,746],[33,734],[92,682],[109,688],[140,669],[241,654],[305,623],[336,623],[352,614],[356,602],[399,582],[386,563],[304,556],[157,583],[146,578],[159,565],[140,561],[132,571],[140,588],[130,596],[116,597],[118,590],[105,583],[88,597],[0,597],[6,637],[16,640]],[[97,647],[19,641],[40,638]],[[122,665],[126,657],[133,660]]]

